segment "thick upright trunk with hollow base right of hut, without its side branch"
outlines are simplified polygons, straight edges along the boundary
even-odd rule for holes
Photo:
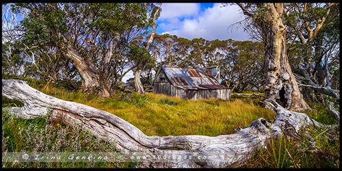
[[[267,21],[263,29],[265,44],[265,98],[276,100],[289,110],[308,109],[287,59],[286,26],[282,23],[282,3],[266,3]]]

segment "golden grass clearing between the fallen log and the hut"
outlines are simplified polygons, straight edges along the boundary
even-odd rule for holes
[[[80,92],[64,92],[64,96],[58,92],[47,93],[108,111],[127,120],[146,135],[217,136],[235,133],[237,127],[248,127],[258,118],[270,122],[276,116],[274,111],[254,105],[248,99],[192,101],[164,94],[146,93],[142,96],[133,92],[133,96],[119,100],[118,96],[103,99],[87,97]]]

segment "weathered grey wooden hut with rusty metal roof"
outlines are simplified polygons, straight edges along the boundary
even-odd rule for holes
[[[153,93],[181,98],[221,98],[231,100],[231,89],[220,85],[218,66],[179,68],[161,66],[153,81]]]

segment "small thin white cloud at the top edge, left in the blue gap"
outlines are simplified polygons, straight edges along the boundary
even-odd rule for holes
[[[175,17],[194,16],[200,10],[199,3],[163,3],[159,21]]]

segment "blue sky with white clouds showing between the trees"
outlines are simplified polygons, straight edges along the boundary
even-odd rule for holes
[[[241,25],[244,14],[237,5],[223,3],[162,3],[157,20],[157,34],[206,40],[250,40]],[[233,26],[231,26],[233,25]],[[122,81],[134,77],[127,73]]]

